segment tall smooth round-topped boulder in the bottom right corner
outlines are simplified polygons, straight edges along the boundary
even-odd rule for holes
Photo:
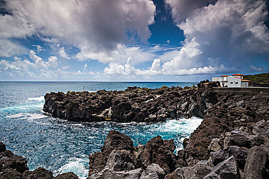
[[[263,178],[265,173],[266,151],[262,147],[252,147],[248,154],[244,169],[245,179]]]

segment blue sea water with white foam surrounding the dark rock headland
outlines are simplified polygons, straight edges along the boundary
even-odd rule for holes
[[[167,120],[161,123],[75,123],[43,113],[44,95],[50,92],[124,90],[127,86],[158,88],[192,86],[196,82],[0,82],[0,142],[28,160],[34,170],[44,167],[54,175],[72,171],[88,175],[88,155],[100,151],[109,130],[128,135],[134,145],[160,135],[174,139],[177,149],[202,119]],[[176,152],[176,151],[175,151]]]

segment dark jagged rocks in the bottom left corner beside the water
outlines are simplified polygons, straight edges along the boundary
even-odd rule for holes
[[[76,179],[73,172],[63,173],[54,177],[51,171],[45,168],[37,168],[30,171],[27,167],[27,160],[22,156],[14,155],[10,150],[6,150],[6,145],[0,142],[0,179],[52,179],[66,178]]]

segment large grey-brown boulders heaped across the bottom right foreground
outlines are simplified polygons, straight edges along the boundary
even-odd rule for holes
[[[268,123],[259,121],[225,132],[229,142],[225,142],[224,135],[213,138],[207,146],[211,147],[210,156],[201,161],[189,155],[188,150],[179,150],[175,155],[173,140],[157,136],[146,145],[133,146],[128,136],[111,130],[101,152],[89,157],[88,178],[267,178]],[[262,143],[251,142],[253,138]],[[233,145],[224,147],[225,143]]]

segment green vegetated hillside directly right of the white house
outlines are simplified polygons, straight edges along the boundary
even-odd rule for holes
[[[244,79],[250,80],[249,84],[253,84],[253,86],[269,87],[269,73],[245,75]]]

